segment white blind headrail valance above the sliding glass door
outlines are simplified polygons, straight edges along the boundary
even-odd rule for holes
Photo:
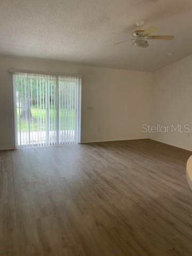
[[[28,74],[40,74],[40,75],[53,75],[53,76],[69,76],[69,77],[82,77],[82,74],[73,73],[57,73],[50,71],[37,71],[37,70],[25,70],[25,69],[14,69],[9,68],[10,73],[28,73]]]

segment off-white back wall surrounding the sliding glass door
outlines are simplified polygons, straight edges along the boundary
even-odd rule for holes
[[[13,148],[9,68],[83,74],[82,142],[147,138],[151,73],[69,65],[60,61],[0,57],[0,149]],[[87,109],[92,107],[92,110]],[[99,130],[98,130],[99,128]]]

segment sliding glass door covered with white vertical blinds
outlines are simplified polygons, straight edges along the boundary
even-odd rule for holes
[[[17,147],[78,143],[81,78],[15,73]]]

